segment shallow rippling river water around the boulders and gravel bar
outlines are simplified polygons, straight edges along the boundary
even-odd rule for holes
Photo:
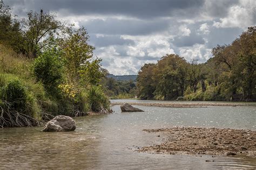
[[[256,105],[207,108],[139,105],[137,108],[145,112],[122,113],[116,105],[111,115],[75,118],[77,129],[72,132],[46,133],[41,131],[42,127],[0,129],[0,169],[256,168],[256,158],[136,151],[138,147],[164,140],[164,137],[157,137],[156,133],[147,133],[143,129],[203,126],[256,130]]]

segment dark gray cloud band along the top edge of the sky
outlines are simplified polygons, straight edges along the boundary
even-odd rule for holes
[[[60,11],[72,15],[125,15],[137,18],[155,18],[172,16],[178,10],[198,8],[204,4],[203,0],[9,0],[11,6],[22,6],[24,9],[47,9]]]

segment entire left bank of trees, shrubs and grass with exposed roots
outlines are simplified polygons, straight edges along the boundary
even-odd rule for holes
[[[0,3],[0,126],[39,125],[56,115],[110,112],[100,82],[106,70],[81,27],[52,13],[17,20]]]

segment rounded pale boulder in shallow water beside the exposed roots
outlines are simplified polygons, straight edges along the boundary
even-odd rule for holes
[[[73,131],[75,129],[74,119],[69,116],[58,115],[46,123],[43,132]]]

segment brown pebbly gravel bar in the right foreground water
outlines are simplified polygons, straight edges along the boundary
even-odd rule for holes
[[[139,148],[138,152],[163,154],[246,155],[256,158],[256,131],[175,127],[145,129],[164,137],[163,143]]]

